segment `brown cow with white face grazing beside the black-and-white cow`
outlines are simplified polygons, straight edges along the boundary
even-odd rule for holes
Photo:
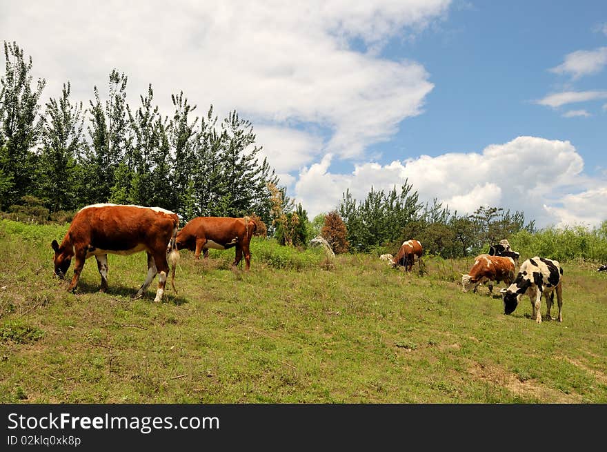
[[[468,271],[468,274],[461,274],[461,290],[468,292],[477,292],[479,284],[488,282],[489,296],[493,293],[493,284],[504,281],[506,284],[512,284],[515,280],[515,262],[512,257],[491,256],[481,254],[475,257],[475,263]]]

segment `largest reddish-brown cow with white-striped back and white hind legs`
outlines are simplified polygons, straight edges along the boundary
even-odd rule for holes
[[[108,254],[130,255],[145,251],[148,255],[148,276],[134,299],[141,298],[152,279],[159,274],[155,302],[161,302],[169,271],[167,255],[173,267],[171,284],[175,290],[175,266],[179,252],[175,245],[179,217],[159,207],[92,204],[81,208],[61,245],[51,242],[54,275],[63,279],[74,259],[74,276],[68,291],[75,292],[84,262],[97,259],[101,275],[101,292],[108,290]],[[177,293],[177,290],[175,290]]]

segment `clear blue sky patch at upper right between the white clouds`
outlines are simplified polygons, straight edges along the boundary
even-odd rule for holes
[[[600,30],[605,21],[607,3],[601,1],[455,2],[436,27],[415,41],[394,39],[382,52],[419,61],[435,83],[424,115],[403,121],[396,146],[384,152],[399,152],[398,144],[404,155],[480,151],[533,135],[572,141],[589,171],[604,166],[605,101],[584,105],[592,117],[574,118],[534,101],[570,83],[570,77],[548,71],[565,55],[607,46]],[[573,86],[606,89],[607,71]]]

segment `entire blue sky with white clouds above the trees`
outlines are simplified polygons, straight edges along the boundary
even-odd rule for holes
[[[0,39],[30,55],[41,101],[88,105],[108,75],[198,115],[253,124],[312,219],[406,182],[452,213],[607,219],[607,2],[8,1]]]

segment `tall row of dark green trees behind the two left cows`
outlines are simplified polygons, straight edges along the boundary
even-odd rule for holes
[[[0,210],[48,211],[48,217],[86,204],[160,206],[184,220],[199,215],[255,214],[271,225],[272,211],[292,208],[268,161],[259,161],[252,124],[236,110],[203,117],[183,92],[163,117],[152,86],[137,108],[126,101],[125,74],[112,70],[108,100],[97,86],[87,106],[70,98],[39,102],[44,79],[32,80],[32,59],[4,43],[0,92]],[[279,199],[279,206],[272,204]]]

